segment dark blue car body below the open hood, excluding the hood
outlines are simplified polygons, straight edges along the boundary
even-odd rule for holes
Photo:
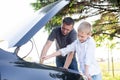
[[[0,80],[84,80],[72,70],[27,62],[0,49]]]

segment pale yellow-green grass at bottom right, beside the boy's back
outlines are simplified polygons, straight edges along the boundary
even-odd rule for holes
[[[103,80],[120,80],[120,62],[114,63],[114,70],[112,64],[107,62],[99,62]]]

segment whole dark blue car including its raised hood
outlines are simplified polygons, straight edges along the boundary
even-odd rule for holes
[[[0,49],[0,80],[85,80],[83,75],[69,69],[57,68],[35,62],[28,62],[17,55],[19,48],[28,42],[69,0],[59,0],[39,10],[32,24],[23,28],[22,34],[16,34],[8,40],[14,52]],[[41,16],[41,13],[44,13]]]

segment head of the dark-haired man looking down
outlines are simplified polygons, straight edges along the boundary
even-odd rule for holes
[[[63,19],[62,25],[61,25],[61,32],[63,35],[69,34],[74,26],[74,20],[71,17],[66,17]]]

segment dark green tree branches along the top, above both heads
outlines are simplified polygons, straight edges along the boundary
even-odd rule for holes
[[[38,10],[55,1],[58,0],[36,0],[31,5],[34,7],[34,10]],[[119,17],[119,5],[119,0],[70,0],[70,3],[48,22],[45,29],[50,32],[54,26],[61,24],[61,20],[65,16],[77,15],[78,17],[75,18],[75,21],[80,21],[81,19],[100,15],[108,11],[116,13],[117,17]]]

